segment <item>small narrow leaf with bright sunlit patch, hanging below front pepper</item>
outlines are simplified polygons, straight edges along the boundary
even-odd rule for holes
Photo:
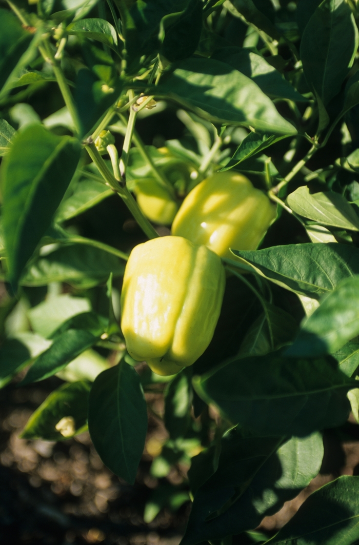
[[[191,422],[192,369],[185,368],[169,383],[165,393],[165,426],[171,439],[184,437]]]

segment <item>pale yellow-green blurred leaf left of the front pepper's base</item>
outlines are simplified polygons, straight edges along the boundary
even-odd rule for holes
[[[98,374],[108,369],[108,362],[98,352],[89,349],[72,360],[69,365],[56,373],[56,376],[66,382],[89,380],[93,382]]]

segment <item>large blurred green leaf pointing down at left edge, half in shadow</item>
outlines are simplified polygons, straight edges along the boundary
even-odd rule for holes
[[[2,164],[3,229],[14,290],[74,175],[80,142],[30,125]]]

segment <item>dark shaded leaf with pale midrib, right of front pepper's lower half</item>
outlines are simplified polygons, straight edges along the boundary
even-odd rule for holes
[[[263,313],[254,320],[247,331],[238,353],[241,358],[267,354],[273,348],[279,348],[293,340],[298,327],[293,316],[270,303],[266,303],[266,312],[269,316],[271,334],[266,314]]]

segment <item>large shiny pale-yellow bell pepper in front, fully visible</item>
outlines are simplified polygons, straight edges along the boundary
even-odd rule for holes
[[[182,237],[136,246],[121,293],[121,329],[129,354],[155,373],[192,365],[208,347],[225,284],[221,259]]]

